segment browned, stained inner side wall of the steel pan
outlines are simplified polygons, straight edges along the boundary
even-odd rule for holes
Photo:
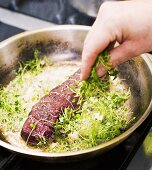
[[[83,43],[82,37],[85,37],[85,34],[86,32],[77,40],[80,41],[80,44]],[[32,41],[29,41],[27,38],[17,42],[15,48],[12,44],[9,44],[8,47],[11,46],[11,48],[7,53],[6,49],[0,52],[0,60],[2,61],[0,65],[1,86],[10,84],[11,80],[15,78],[15,71],[18,69],[19,62],[31,60],[35,49],[38,49],[41,56],[50,58],[53,63],[61,63],[61,65],[63,65],[64,62],[68,63],[65,65],[70,67],[73,72],[80,67],[82,47],[78,47],[73,40],[66,40],[66,38],[63,40],[64,32],[58,35],[57,38],[48,37],[49,40],[46,39],[46,37],[39,40],[36,35],[33,37]],[[14,53],[12,53],[12,50],[14,50]],[[10,60],[6,60],[6,58],[10,58]],[[66,67],[64,69],[66,69]],[[134,115],[132,116],[136,117],[133,123],[135,124],[146,111],[152,98],[152,77],[149,73],[150,70],[145,60],[141,57],[136,57],[134,60],[120,65],[118,70],[120,72],[120,78],[125,79],[125,86],[130,87],[132,93],[130,107],[134,111]],[[6,140],[3,133],[1,133],[1,140]]]

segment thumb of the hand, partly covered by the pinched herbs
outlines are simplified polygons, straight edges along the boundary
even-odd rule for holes
[[[119,64],[124,63],[125,61],[131,59],[134,56],[139,54],[137,46],[133,42],[124,42],[119,46],[113,48],[110,51],[110,64],[112,68],[115,68]],[[105,75],[106,70],[102,64],[97,68],[97,74],[99,77]]]

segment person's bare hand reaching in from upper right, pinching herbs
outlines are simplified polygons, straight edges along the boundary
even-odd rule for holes
[[[110,50],[112,67],[152,50],[152,1],[134,0],[106,2],[89,31],[82,52],[81,79],[86,80],[97,55],[110,43],[119,45]],[[99,77],[106,73],[100,65]]]

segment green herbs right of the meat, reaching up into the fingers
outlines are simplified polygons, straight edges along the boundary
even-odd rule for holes
[[[103,61],[109,74],[101,79],[96,69]],[[124,103],[130,97],[130,91],[125,93],[124,89],[110,90],[111,77],[116,76],[116,72],[111,74],[113,69],[108,63],[109,54],[104,51],[98,56],[88,80],[77,82],[76,89],[70,86],[79,97],[80,107],[78,110],[66,108],[56,123],[57,142],[60,144],[58,138],[61,138],[65,146],[62,149],[61,144],[56,146],[56,151],[75,151],[96,146],[120,135],[128,126],[126,115],[129,109]]]

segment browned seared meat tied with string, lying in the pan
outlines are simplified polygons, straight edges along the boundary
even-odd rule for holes
[[[69,86],[76,87],[75,82],[80,79],[79,77],[80,70],[61,85],[52,89],[48,95],[32,107],[21,131],[21,137],[27,143],[36,145],[43,139],[52,138],[54,125],[64,108],[75,109],[77,107],[78,98],[75,97],[75,93]]]

